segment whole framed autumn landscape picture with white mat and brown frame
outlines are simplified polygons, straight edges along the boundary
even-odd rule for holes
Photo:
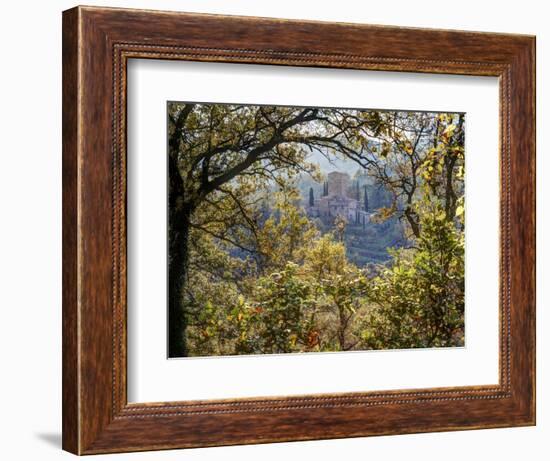
[[[535,424],[535,39],[63,13],[63,448]]]

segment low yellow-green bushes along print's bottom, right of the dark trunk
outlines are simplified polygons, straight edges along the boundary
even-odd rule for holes
[[[299,259],[301,265],[288,261],[240,288],[194,279],[204,307],[196,309],[189,327],[190,349],[224,355],[354,348],[360,340],[354,320],[369,284],[364,271],[347,261],[332,234],[310,241]],[[212,299],[219,300],[215,307]]]

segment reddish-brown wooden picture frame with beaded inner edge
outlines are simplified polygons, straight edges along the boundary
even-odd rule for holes
[[[262,399],[126,399],[130,58],[500,79],[500,382]],[[535,38],[77,7],[63,13],[63,448],[77,454],[535,423]]]

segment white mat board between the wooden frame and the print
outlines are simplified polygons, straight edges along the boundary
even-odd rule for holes
[[[128,93],[131,402],[498,383],[496,77],[144,59],[128,64]],[[172,100],[466,112],[466,347],[166,360],[166,101]]]

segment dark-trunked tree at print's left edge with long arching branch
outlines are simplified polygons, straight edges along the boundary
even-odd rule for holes
[[[341,155],[353,153],[346,132],[358,129],[358,120],[345,112],[319,108],[169,105],[170,356],[187,354],[182,304],[189,233],[193,227],[208,229],[206,221],[195,222],[199,207],[207,203],[215,208],[220,201],[233,201],[242,219],[232,215],[227,229],[218,231],[222,231],[220,237],[237,243],[230,235],[235,229],[241,234],[245,228],[254,232],[240,187],[261,189],[273,181],[284,189],[298,173],[318,174],[315,165],[307,162],[308,154],[317,150],[328,155],[329,149],[339,149]],[[370,123],[368,114],[360,120],[366,123]],[[213,219],[223,225],[219,215]]]

